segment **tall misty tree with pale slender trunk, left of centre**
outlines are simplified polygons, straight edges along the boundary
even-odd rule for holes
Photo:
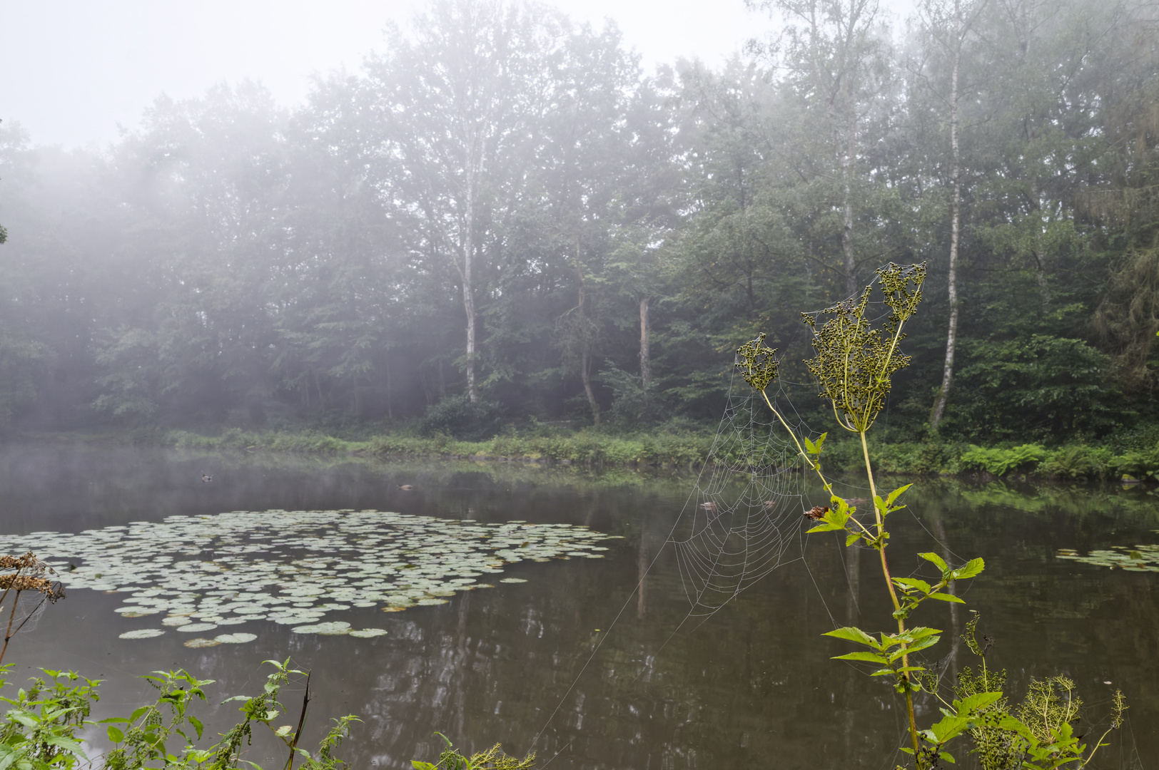
[[[491,206],[518,173],[509,161],[532,140],[547,104],[545,64],[563,43],[559,17],[502,0],[439,0],[394,29],[367,61],[379,153],[398,174],[382,193],[415,223],[415,248],[450,259],[466,316],[462,366],[479,399],[478,281]]]

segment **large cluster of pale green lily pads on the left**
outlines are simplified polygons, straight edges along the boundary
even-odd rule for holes
[[[153,628],[125,639],[191,635],[187,646],[249,641],[203,636],[219,626],[271,621],[298,633],[374,637],[382,629],[323,622],[351,607],[399,611],[444,604],[490,588],[479,578],[505,564],[600,558],[611,536],[586,527],[524,521],[480,523],[380,511],[233,511],[161,522],[0,537],[0,552],[35,551],[68,589],[123,593],[123,617]],[[508,578],[503,582],[520,581]]]

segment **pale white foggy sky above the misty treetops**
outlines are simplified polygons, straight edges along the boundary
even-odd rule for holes
[[[902,0],[892,0],[898,2]],[[613,19],[646,69],[678,57],[719,65],[772,22],[743,0],[555,0],[576,21]],[[137,127],[153,100],[223,81],[263,83],[286,105],[311,76],[382,45],[423,0],[7,0],[0,24],[0,119],[36,145],[101,148]]]

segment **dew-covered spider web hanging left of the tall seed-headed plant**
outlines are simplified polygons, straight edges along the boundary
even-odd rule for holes
[[[773,388],[770,388],[773,390]],[[796,447],[764,397],[736,379],[708,461],[672,530],[691,617],[707,617],[800,557]]]

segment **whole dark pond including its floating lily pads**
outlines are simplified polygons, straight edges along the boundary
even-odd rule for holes
[[[71,587],[6,661],[13,680],[41,666],[104,680],[96,718],[147,698],[141,674],[185,668],[216,680],[204,713],[220,729],[235,706],[216,704],[255,695],[262,661],[290,658],[312,672],[306,745],[329,718],[359,714],[340,753],[356,768],[433,761],[435,731],[471,750],[534,749],[559,770],[892,767],[898,701],[830,660],[850,647],[819,636],[885,628],[873,553],[803,536],[794,511],[777,530],[777,569],[690,616],[668,541],[687,534],[694,486],[512,463],[9,445],[5,548],[52,553]],[[994,639],[989,665],[1016,695],[1032,676],[1065,674],[1095,717],[1121,687],[1129,720],[1099,767],[1159,756],[1159,573],[1147,560],[1159,499],[923,479],[907,503],[895,574],[918,570],[921,550],[985,557],[962,588]],[[1070,558],[1092,551],[1093,563]],[[967,610],[921,611],[945,630],[931,659],[948,676],[974,666],[950,644]],[[300,698],[300,682],[285,695]],[[271,751],[256,740],[247,758]]]

